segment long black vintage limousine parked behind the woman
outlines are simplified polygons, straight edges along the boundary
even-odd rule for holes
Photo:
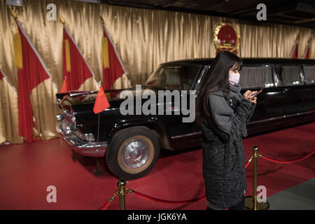
[[[141,91],[196,90],[197,97],[211,60],[160,64]],[[240,73],[242,94],[267,84],[258,95],[255,112],[247,125],[248,136],[315,120],[314,59],[243,58]],[[129,90],[136,92],[135,88]],[[120,104],[125,99],[119,97],[122,91],[105,90],[111,95],[111,107],[100,113],[99,141],[98,116],[92,111],[96,92],[57,94],[57,104],[62,109],[57,115],[57,132],[74,151],[104,157],[111,172],[127,180],[148,174],[159,158],[160,148],[175,151],[201,146],[200,125],[183,123],[183,114],[123,116]],[[163,109],[175,111],[174,104],[165,104]]]

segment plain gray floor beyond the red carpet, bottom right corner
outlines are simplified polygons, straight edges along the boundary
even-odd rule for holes
[[[315,210],[315,178],[267,197],[270,210]]]

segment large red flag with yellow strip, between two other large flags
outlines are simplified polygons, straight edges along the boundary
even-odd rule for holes
[[[92,73],[66,25],[64,25],[62,57],[64,79],[67,79],[63,83],[66,83],[67,91],[78,90],[87,78],[94,77],[94,73]]]

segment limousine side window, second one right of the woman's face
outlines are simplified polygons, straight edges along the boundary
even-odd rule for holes
[[[276,70],[279,73],[279,77],[283,82],[283,85],[302,85],[302,79],[300,76],[300,66],[276,66]]]

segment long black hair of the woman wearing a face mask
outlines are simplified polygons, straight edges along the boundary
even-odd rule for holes
[[[200,91],[197,99],[197,122],[200,123],[201,118],[209,120],[211,111],[209,108],[209,94],[223,90],[224,96],[228,96],[230,92],[229,71],[241,70],[242,61],[234,53],[223,50],[216,55],[214,61],[211,62],[210,69],[204,73],[202,83],[200,83]]]

